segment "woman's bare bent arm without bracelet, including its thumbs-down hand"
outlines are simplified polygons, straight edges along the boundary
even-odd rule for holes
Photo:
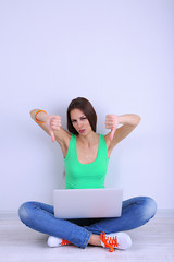
[[[111,131],[105,135],[108,148],[112,151],[114,146],[125,139],[140,122],[140,117],[135,114],[122,116],[108,115],[105,118],[105,128]],[[123,124],[117,128],[119,124]]]

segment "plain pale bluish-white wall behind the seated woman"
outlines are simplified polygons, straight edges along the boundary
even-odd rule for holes
[[[59,114],[87,97],[107,133],[107,114],[140,124],[113,151],[107,187],[124,199],[173,201],[174,1],[0,1],[0,211],[29,200],[52,203],[64,187],[63,156],[29,110]]]

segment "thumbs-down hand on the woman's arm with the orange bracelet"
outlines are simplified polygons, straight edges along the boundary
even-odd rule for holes
[[[47,115],[46,124],[48,128],[48,132],[51,135],[52,142],[55,141],[54,132],[61,128],[61,117],[60,116],[49,116]]]

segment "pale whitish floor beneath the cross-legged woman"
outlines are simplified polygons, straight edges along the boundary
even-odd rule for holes
[[[16,215],[0,215],[1,262],[116,261],[174,262],[174,218],[153,217],[145,226],[129,230],[133,246],[115,250],[87,246],[49,248],[47,236],[27,228]]]

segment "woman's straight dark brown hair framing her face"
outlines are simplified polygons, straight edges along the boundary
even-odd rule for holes
[[[78,132],[73,127],[71,117],[70,117],[71,110],[73,110],[75,108],[82,110],[85,114],[85,116],[87,117],[87,119],[91,126],[92,131],[96,132],[97,114],[96,114],[91,103],[88,99],[86,99],[85,97],[74,98],[69,105],[69,108],[67,108],[67,129],[69,129],[69,131],[73,134],[78,134]]]

